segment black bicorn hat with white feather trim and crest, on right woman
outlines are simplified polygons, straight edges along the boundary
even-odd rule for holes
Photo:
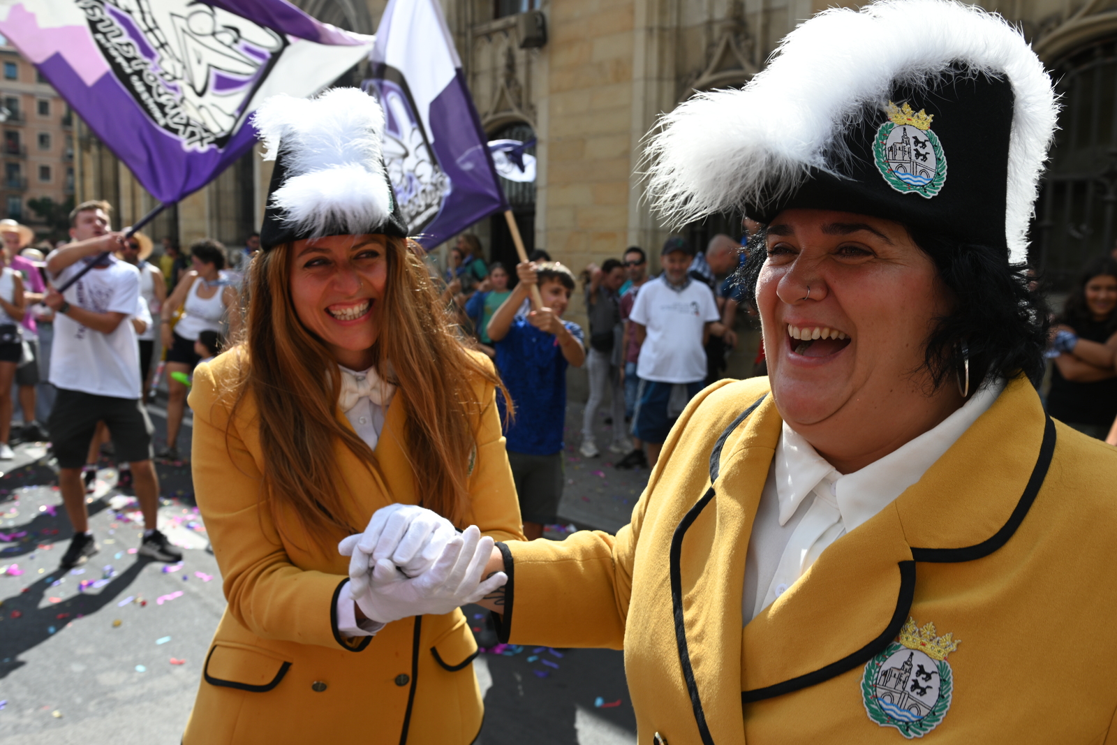
[[[819,13],[742,90],[700,94],[649,146],[674,221],[793,208],[869,214],[1027,259],[1054,133],[1051,80],[1002,18],[949,0]]]

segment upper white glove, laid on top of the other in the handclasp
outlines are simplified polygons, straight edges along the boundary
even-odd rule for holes
[[[435,565],[447,542],[457,534],[450,520],[417,505],[394,504],[378,509],[364,533],[337,544],[342,556],[352,556],[353,596],[367,590],[372,567],[379,560],[390,560],[409,577],[419,576]]]

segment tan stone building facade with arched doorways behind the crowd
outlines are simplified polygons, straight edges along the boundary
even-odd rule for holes
[[[296,0],[311,15],[373,34],[384,0]],[[537,140],[535,184],[509,189],[528,242],[575,270],[629,245],[668,235],[642,201],[641,143],[660,113],[694,90],[744,85],[822,0],[442,0],[477,111],[496,139]],[[990,3],[990,7],[993,7]],[[1115,0],[1005,0],[1061,76],[1065,122],[1035,225],[1033,262],[1056,279],[1117,239],[1117,6]],[[546,42],[524,48],[523,12],[541,11]],[[363,70],[350,78],[359,82]],[[761,115],[761,113],[757,113]],[[80,137],[78,192],[118,203],[123,223],[152,206],[94,137]],[[529,151],[531,152],[531,151]],[[259,225],[269,175],[246,156],[155,222],[151,232],[189,242],[239,242]],[[741,216],[682,228],[698,243],[739,231]],[[510,258],[503,219],[475,226],[497,258]],[[658,251],[651,250],[651,254]],[[574,308],[577,314],[577,305]]]

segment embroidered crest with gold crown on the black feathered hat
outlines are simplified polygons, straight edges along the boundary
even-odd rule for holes
[[[877,170],[892,189],[930,199],[946,183],[946,154],[930,131],[934,114],[888,102],[888,121],[872,140]]]

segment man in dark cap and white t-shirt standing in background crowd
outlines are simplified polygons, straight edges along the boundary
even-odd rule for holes
[[[685,239],[668,238],[660,255],[663,273],[640,288],[629,314],[640,344],[632,434],[645,441],[649,466],[659,459],[687,402],[701,390],[706,338],[719,331],[713,290],[687,275],[694,254]]]

